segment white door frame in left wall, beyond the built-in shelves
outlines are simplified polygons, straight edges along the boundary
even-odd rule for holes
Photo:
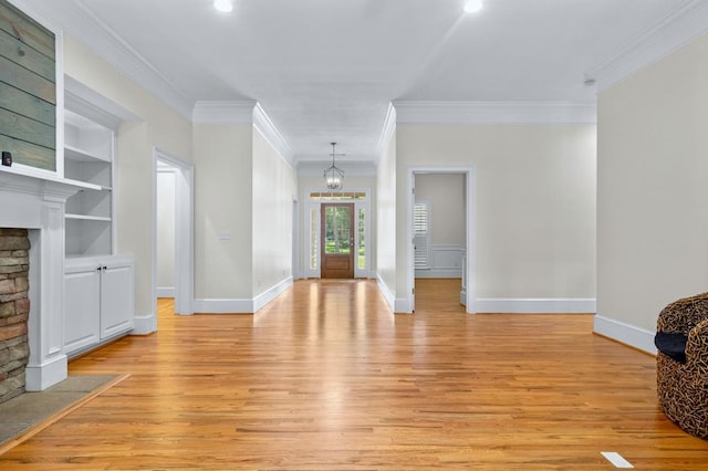
[[[153,147],[153,273],[152,299],[155,302],[157,331],[157,163],[175,168],[175,313],[194,314],[194,166],[157,147]]]

